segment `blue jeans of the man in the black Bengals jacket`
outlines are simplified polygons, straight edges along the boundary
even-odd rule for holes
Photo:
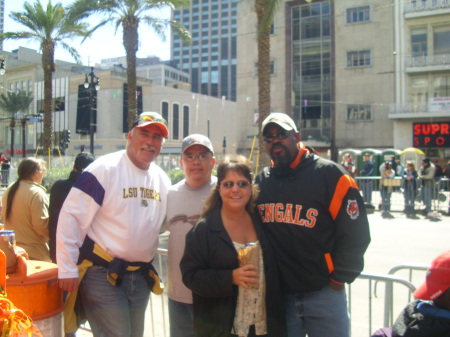
[[[348,337],[350,319],[345,291],[327,286],[284,295],[288,337]]]

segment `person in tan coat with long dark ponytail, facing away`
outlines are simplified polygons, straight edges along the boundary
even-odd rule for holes
[[[17,168],[18,179],[9,186],[2,199],[4,228],[13,230],[17,246],[30,259],[50,261],[48,248],[48,197],[41,185],[47,171],[45,161],[24,158]]]

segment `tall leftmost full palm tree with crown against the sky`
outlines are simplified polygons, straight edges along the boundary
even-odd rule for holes
[[[42,50],[42,68],[44,70],[44,153],[50,149],[53,134],[52,111],[52,77],[55,71],[55,48],[61,46],[79,62],[79,53],[67,43],[66,39],[85,37],[88,34],[87,25],[69,20],[66,10],[60,2],[52,5],[49,0],[44,8],[39,0],[34,4],[25,2],[22,12],[11,12],[12,20],[27,28],[26,31],[6,32],[0,34],[2,40],[28,39],[37,41]]]

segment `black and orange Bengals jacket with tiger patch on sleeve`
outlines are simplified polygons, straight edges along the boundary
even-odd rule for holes
[[[353,282],[370,243],[353,178],[332,161],[300,154],[296,167],[266,167],[255,178],[257,208],[287,294],[319,290],[330,279]]]

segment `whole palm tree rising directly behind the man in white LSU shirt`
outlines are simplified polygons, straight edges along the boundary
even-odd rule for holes
[[[191,41],[188,30],[174,20],[151,16],[149,11],[169,6],[187,6],[189,0],[75,0],[69,7],[69,17],[73,20],[86,19],[93,14],[104,15],[104,19],[94,26],[90,33],[107,23],[114,23],[116,32],[123,29],[123,46],[127,57],[128,81],[128,128],[131,129],[137,113],[136,99],[136,53],[139,48],[139,24],[149,25],[164,40],[165,29],[170,26],[184,43]],[[84,40],[83,40],[84,41]]]

